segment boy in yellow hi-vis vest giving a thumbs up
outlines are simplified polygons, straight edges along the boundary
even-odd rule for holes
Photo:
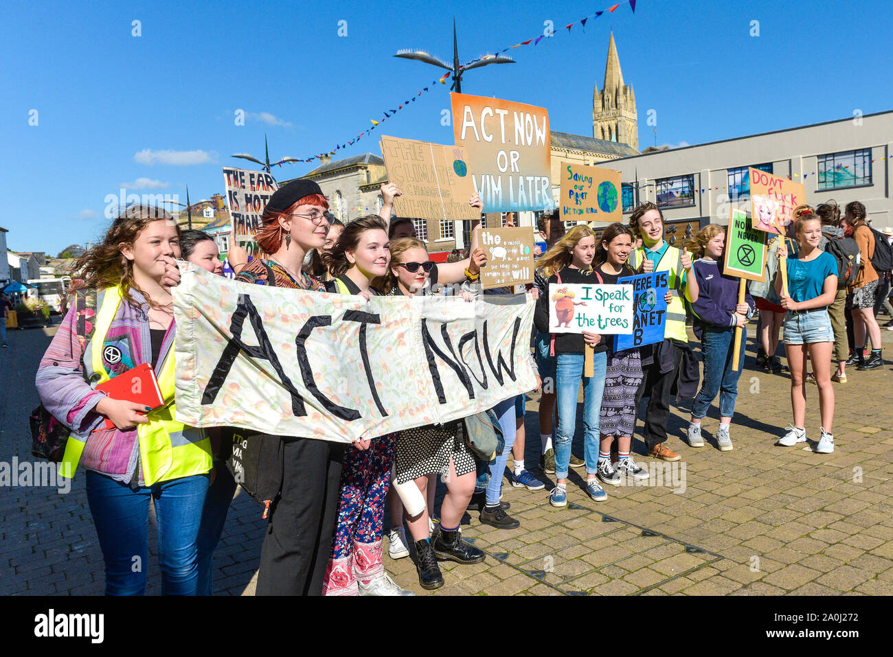
[[[670,420],[670,389],[679,374],[680,345],[687,345],[685,303],[697,301],[697,280],[691,273],[689,254],[663,240],[663,212],[653,203],[641,204],[630,215],[630,229],[642,238],[642,245],[630,254],[630,266],[644,273],[670,272],[670,294],[667,304],[663,343],[654,345],[654,362],[645,366],[645,378],[638,387],[636,408],[642,397],[649,395],[645,412],[643,437],[648,455],[662,461],[679,461],[681,456],[666,445],[667,421]]]

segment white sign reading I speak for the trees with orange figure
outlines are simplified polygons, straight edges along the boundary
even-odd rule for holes
[[[632,333],[632,286],[549,284],[550,333]]]

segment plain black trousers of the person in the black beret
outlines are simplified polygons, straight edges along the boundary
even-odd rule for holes
[[[345,447],[313,438],[283,441],[281,496],[263,538],[256,595],[321,595]]]

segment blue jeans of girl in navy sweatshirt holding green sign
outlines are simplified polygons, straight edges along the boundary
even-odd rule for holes
[[[691,405],[693,418],[701,419],[706,416],[707,409],[716,399],[716,393],[720,393],[720,417],[730,418],[735,412],[740,368],[744,365],[746,338],[745,335],[741,336],[739,370],[736,371],[731,368],[735,331],[704,328],[704,335],[701,338],[701,351],[704,353],[704,382]]]

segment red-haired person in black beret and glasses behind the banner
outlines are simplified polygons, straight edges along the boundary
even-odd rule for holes
[[[263,255],[249,262],[236,279],[324,292],[323,282],[302,271],[301,265],[308,251],[325,244],[328,207],[313,180],[292,180],[280,187],[267,202],[262,228],[255,235]],[[256,595],[321,595],[338,517],[341,466],[345,449],[353,447],[299,436],[261,434],[250,440],[278,447],[281,459],[281,468],[263,472],[263,477],[280,481],[279,494],[267,501],[270,520]],[[271,483],[273,488],[267,490],[275,489],[276,482]]]

